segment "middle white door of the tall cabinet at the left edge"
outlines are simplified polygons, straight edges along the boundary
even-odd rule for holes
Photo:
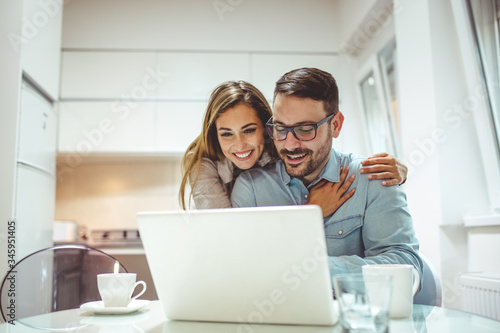
[[[21,90],[18,161],[54,174],[57,118],[52,105],[33,89]]]

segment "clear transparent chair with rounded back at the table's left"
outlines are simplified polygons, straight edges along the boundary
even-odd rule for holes
[[[112,273],[115,263],[119,262],[112,256],[83,245],[34,252],[17,262],[2,281],[2,318],[19,320],[100,300],[97,274]],[[119,267],[127,272],[122,264]]]

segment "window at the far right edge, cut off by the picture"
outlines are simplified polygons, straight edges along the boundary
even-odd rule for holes
[[[452,1],[491,211],[500,213],[500,73],[498,0]],[[478,87],[479,83],[479,87]]]

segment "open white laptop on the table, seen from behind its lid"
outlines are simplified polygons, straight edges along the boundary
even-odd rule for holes
[[[171,320],[338,320],[317,206],[140,212],[137,223]]]

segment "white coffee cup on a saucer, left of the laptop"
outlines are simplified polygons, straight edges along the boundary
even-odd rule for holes
[[[147,285],[144,281],[135,282],[135,273],[109,273],[97,275],[97,287],[105,307],[125,307],[132,300],[144,294]],[[142,285],[142,290],[132,297],[135,288]]]

